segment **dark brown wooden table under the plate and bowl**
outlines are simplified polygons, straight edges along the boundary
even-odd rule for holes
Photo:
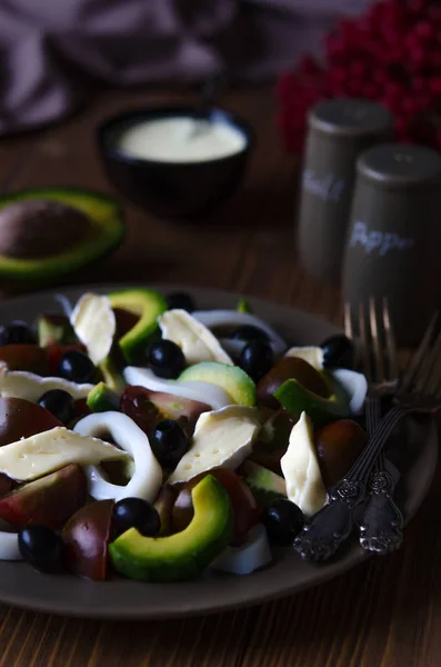
[[[117,110],[182,98],[110,92],[58,127],[2,140],[0,187],[109,190],[94,149],[97,122]],[[338,320],[339,293],[308,278],[295,258],[297,162],[280,149],[272,91],[231,92],[223,102],[254,123],[259,139],[235,199],[198,228],[171,226],[127,205],[127,243],[70,282],[174,280],[267,297]],[[72,620],[0,607],[0,665],[439,667],[440,480],[438,470],[400,551],[281,601],[169,623]]]

